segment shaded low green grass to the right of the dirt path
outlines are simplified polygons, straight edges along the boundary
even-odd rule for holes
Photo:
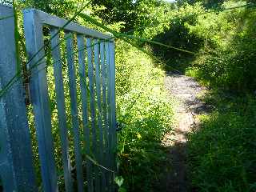
[[[192,189],[255,191],[255,99],[211,93],[205,100],[216,109],[189,136]]]

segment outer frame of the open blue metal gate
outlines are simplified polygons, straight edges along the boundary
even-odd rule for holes
[[[116,170],[115,168],[115,153],[116,153],[116,111],[115,111],[115,66],[114,66],[114,37],[106,34],[102,34],[96,30],[90,30],[84,26],[79,26],[74,22],[68,22],[65,19],[58,18],[51,14],[46,14],[40,10],[29,9],[23,10],[24,15],[24,30],[26,36],[26,50],[30,59],[28,63],[28,68],[31,69],[31,78],[30,78],[30,95],[34,108],[34,116],[36,121],[36,129],[37,129],[37,138],[38,138],[38,146],[39,146],[39,157],[41,161],[41,170],[42,170],[42,180],[44,189],[46,191],[58,191],[58,179],[56,174],[56,166],[54,163],[54,143],[51,134],[51,119],[50,119],[50,109],[46,103],[49,103],[49,95],[48,95],[48,87],[46,81],[46,60],[44,58],[45,50],[44,50],[44,42],[43,42],[43,34],[42,28],[43,26],[50,26],[54,29],[64,30],[66,34],[70,32],[70,34],[84,35],[86,37],[86,41],[88,39],[98,39],[106,42],[106,46],[109,50],[108,63],[106,63],[106,70],[109,74],[108,79],[108,99],[107,104],[109,107],[109,151],[108,154],[110,156],[109,166],[111,170]],[[68,23],[68,24],[66,24]],[[58,31],[59,32],[59,31]],[[52,37],[55,37],[55,34],[52,34]],[[51,39],[53,40],[53,39]],[[73,52],[72,46],[73,42],[70,38],[66,38],[66,46],[67,50],[67,63],[69,68],[69,78],[72,82],[70,84],[70,96],[71,100],[75,103],[77,100],[76,90],[74,90],[74,61],[73,56],[70,55],[70,52]],[[55,48],[53,48],[55,49]],[[59,49],[57,47],[57,49]],[[52,50],[53,52],[55,50]],[[70,52],[69,52],[70,51]],[[92,54],[92,53],[90,53]],[[106,59],[107,60],[107,59]],[[40,65],[34,66],[33,63],[37,63],[40,61]],[[93,61],[91,61],[93,62]],[[88,62],[89,65],[90,62]],[[99,64],[99,63],[98,63]],[[96,64],[95,64],[96,65]],[[36,72],[36,73],[34,73]],[[89,72],[90,73],[90,72]],[[90,74],[89,74],[90,75]],[[97,78],[96,78],[97,79]],[[93,81],[90,79],[90,81]],[[97,87],[97,82],[96,82]],[[88,98],[87,98],[88,99]],[[90,98],[91,99],[91,98]],[[94,99],[94,98],[93,98]],[[75,162],[76,166],[79,169],[82,165],[81,154],[79,154],[80,144],[78,142],[78,119],[75,117],[77,115],[77,111],[75,110],[77,107],[74,106],[76,104],[72,104],[71,108],[74,113],[72,114],[72,122],[74,129],[74,148],[75,148]],[[94,106],[93,106],[94,107]],[[94,122],[93,122],[94,123]],[[96,132],[95,132],[96,133]],[[94,133],[93,133],[94,134]],[[94,142],[95,143],[95,142]],[[94,145],[93,143],[93,145]],[[94,149],[96,150],[96,149]],[[80,150],[81,151],[81,150]],[[97,151],[95,152],[97,154]],[[101,161],[100,159],[98,159]],[[78,163],[78,164],[77,164]],[[99,173],[98,168],[95,170],[95,174]],[[78,191],[82,191],[82,171],[79,170],[77,172],[78,177]],[[97,178],[97,177],[96,177]],[[100,179],[100,178],[99,178]],[[101,185],[98,179],[96,180],[96,191],[99,191],[98,185]],[[110,191],[114,191],[114,174],[111,174],[110,177]],[[92,186],[89,186],[92,189]],[[92,191],[92,190],[90,190]]]

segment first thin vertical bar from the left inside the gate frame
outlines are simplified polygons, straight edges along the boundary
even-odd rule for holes
[[[54,61],[54,83],[56,90],[56,102],[58,109],[58,127],[60,130],[61,146],[62,146],[62,163],[64,168],[64,179],[66,192],[73,191],[70,155],[69,155],[69,142],[66,125],[66,107],[65,95],[62,75],[62,55],[60,50],[60,41],[57,28],[50,29],[51,37],[51,50]]]

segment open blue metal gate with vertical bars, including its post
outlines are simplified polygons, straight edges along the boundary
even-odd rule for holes
[[[11,7],[0,6],[1,18],[7,17],[0,20],[1,90],[17,78],[0,98],[0,175],[4,191],[37,191],[22,78],[16,70],[14,18],[8,18],[12,14]],[[60,134],[58,147],[62,152],[65,190],[74,191],[75,180],[78,191],[114,191],[116,106],[113,37],[39,10],[24,10],[23,17],[43,190],[64,190],[58,187],[61,178],[58,177],[54,157],[56,144],[52,134],[47,82],[47,68],[53,67]],[[47,32],[44,27],[50,31],[49,43],[45,39]],[[50,59],[52,66],[46,64],[46,58]],[[64,70],[68,79],[63,78]],[[68,94],[63,81],[68,81]],[[70,124],[67,121],[66,95],[70,99]],[[70,165],[70,138],[74,141],[74,167]]]

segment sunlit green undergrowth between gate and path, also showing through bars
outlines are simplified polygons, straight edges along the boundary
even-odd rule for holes
[[[17,11],[14,10],[18,15]],[[17,18],[17,17],[16,17]],[[72,19],[69,20],[72,21]],[[21,50],[23,64],[26,62],[25,47],[19,47],[22,41],[22,33],[18,22],[15,22],[15,39],[17,49]],[[68,24],[68,22],[67,22]],[[67,25],[66,24],[66,25]],[[46,37],[46,42],[50,38]],[[54,90],[54,78],[52,61],[50,58],[50,46],[46,43],[42,49],[46,50],[47,80],[49,84],[50,110],[52,117],[52,133],[54,136],[54,154],[58,166],[58,177],[60,189],[63,189],[62,160],[60,150],[60,138],[58,134],[58,117],[56,110],[56,98]],[[62,48],[63,49],[63,48]],[[38,51],[39,52],[39,51]],[[150,51],[147,51],[150,53]],[[18,51],[19,53],[19,51]],[[165,163],[165,150],[161,146],[161,139],[167,130],[170,130],[172,120],[172,110],[169,100],[166,99],[166,93],[162,89],[164,73],[158,67],[154,66],[152,58],[134,48],[126,42],[117,42],[117,100],[118,100],[118,120],[123,123],[124,130],[119,137],[118,162],[121,170],[120,174],[124,178],[122,190],[138,191],[141,189],[147,191],[152,188],[154,182],[158,180],[161,170],[158,165]],[[34,58],[36,55],[33,55]],[[30,58],[31,60],[31,58]],[[41,64],[41,59],[35,63],[35,66]],[[65,64],[64,64],[65,66]],[[19,66],[17,67],[19,69]],[[6,89],[1,90],[3,95],[10,87],[22,77],[20,70],[10,82]],[[64,79],[66,70],[64,70]],[[65,81],[65,80],[64,80]],[[68,82],[65,81],[66,96],[68,96]],[[79,86],[78,86],[79,87]],[[66,108],[70,109],[69,97],[66,97]],[[79,98],[79,95],[78,95]],[[80,106],[81,109],[81,106]],[[38,144],[34,128],[34,116],[32,108],[29,106],[29,122],[32,134],[34,165],[38,176],[39,190],[42,190],[40,176],[40,161],[38,157]],[[80,117],[81,118],[81,117]],[[70,116],[67,116],[70,125]],[[70,126],[69,129],[71,130]],[[70,154],[71,163],[74,166],[74,143],[70,136]],[[162,157],[161,157],[162,155]],[[96,162],[98,163],[98,162]],[[128,172],[126,172],[128,170]],[[141,173],[143,172],[143,174]],[[143,187],[142,187],[143,186]]]

